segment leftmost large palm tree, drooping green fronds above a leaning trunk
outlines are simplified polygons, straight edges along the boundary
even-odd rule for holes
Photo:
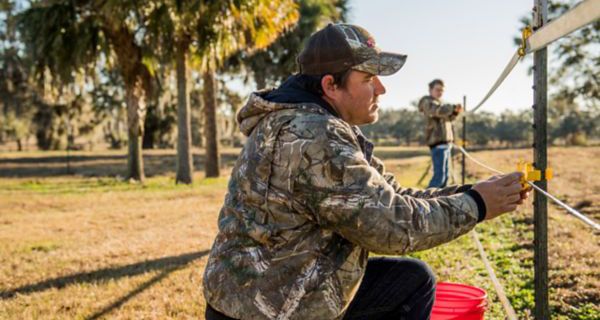
[[[127,105],[127,175],[143,182],[141,143],[155,79],[151,51],[140,36],[141,12],[136,1],[44,1],[20,15],[19,30],[36,73],[49,71],[54,82],[72,82],[75,73],[90,71],[99,59],[119,70]]]

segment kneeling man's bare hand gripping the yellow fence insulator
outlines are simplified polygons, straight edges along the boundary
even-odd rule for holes
[[[503,213],[517,209],[529,197],[529,190],[521,190],[521,172],[494,176],[473,186],[483,198],[486,207],[485,219],[493,219]]]

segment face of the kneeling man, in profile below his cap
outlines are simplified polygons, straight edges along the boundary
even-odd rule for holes
[[[351,70],[346,87],[337,87],[335,91],[329,98],[344,121],[352,125],[377,121],[378,97],[385,93],[377,76]]]

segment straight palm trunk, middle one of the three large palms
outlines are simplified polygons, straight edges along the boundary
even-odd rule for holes
[[[175,183],[192,183],[194,163],[192,161],[192,121],[188,103],[186,44],[179,44],[177,64],[177,174]]]

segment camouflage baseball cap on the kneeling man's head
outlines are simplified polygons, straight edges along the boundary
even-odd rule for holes
[[[298,56],[300,73],[308,75],[353,69],[387,76],[405,61],[406,55],[382,52],[367,30],[350,24],[329,24],[317,31]]]

